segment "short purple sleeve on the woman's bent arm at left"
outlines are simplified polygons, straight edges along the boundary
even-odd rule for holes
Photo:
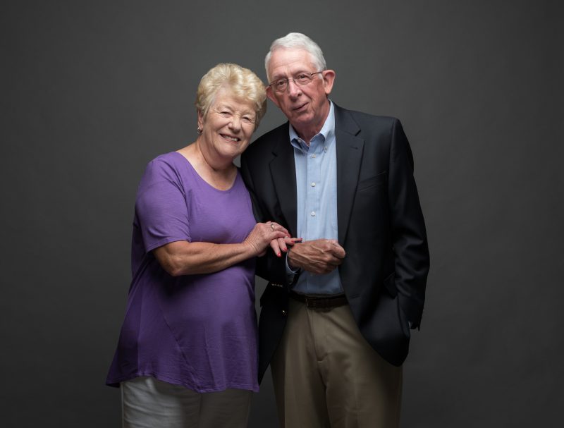
[[[190,241],[186,190],[176,168],[165,159],[147,165],[137,190],[135,216],[145,252],[178,240]]]

